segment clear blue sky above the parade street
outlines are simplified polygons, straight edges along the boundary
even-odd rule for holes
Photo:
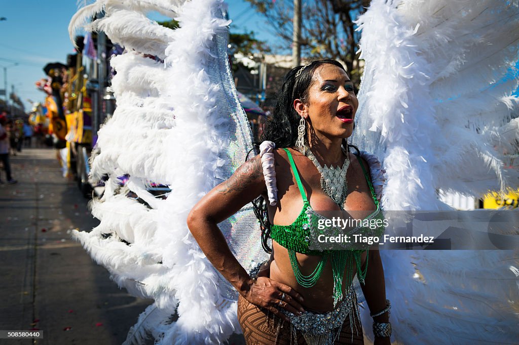
[[[49,62],[66,63],[66,55],[73,53],[67,27],[77,10],[76,0],[2,0],[0,2],[0,89],[4,89],[4,70],[7,68],[8,90],[24,100],[42,101],[44,94],[34,83],[45,77],[42,70]],[[276,38],[268,31],[268,22],[243,0],[228,0],[229,16],[236,33],[254,31],[256,38],[272,42]],[[156,19],[159,19],[158,17]],[[267,30],[265,30],[267,27]],[[19,65],[13,66],[14,62]],[[3,97],[3,96],[0,96]]]

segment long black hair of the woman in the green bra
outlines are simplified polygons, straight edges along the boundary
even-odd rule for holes
[[[313,73],[319,66],[330,64],[339,68],[344,67],[335,60],[313,61],[306,66],[297,66],[286,74],[281,90],[277,94],[274,114],[265,123],[262,141],[274,141],[276,148],[294,147],[297,140],[297,126],[301,116],[294,109],[294,100],[301,99],[308,102],[308,90],[312,84]],[[296,74],[299,75],[296,77]],[[268,247],[267,240],[270,237],[270,221],[268,219],[267,204],[262,196],[253,200],[253,209],[260,221],[262,232],[262,246],[267,253],[272,250]]]

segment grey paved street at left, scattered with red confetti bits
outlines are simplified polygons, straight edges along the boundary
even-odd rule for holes
[[[43,330],[37,344],[122,343],[152,300],[119,290],[67,234],[90,231],[97,220],[76,183],[61,176],[55,151],[24,149],[10,158],[19,182],[0,185],[0,330]]]

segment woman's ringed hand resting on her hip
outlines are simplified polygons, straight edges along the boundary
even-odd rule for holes
[[[253,280],[243,297],[253,305],[267,309],[285,321],[289,321],[289,319],[279,310],[280,308],[296,315],[304,311],[301,305],[303,302],[301,295],[292,287],[267,277],[258,277]]]

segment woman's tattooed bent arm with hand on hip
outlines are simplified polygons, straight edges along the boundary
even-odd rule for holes
[[[252,279],[231,253],[217,224],[265,192],[259,156],[242,164],[227,181],[218,184],[191,210],[187,226],[213,266],[250,303],[286,319],[276,307],[293,313],[303,310],[302,297],[292,287],[267,277]],[[258,234],[258,240],[259,240]],[[281,297],[284,294],[283,300]]]

